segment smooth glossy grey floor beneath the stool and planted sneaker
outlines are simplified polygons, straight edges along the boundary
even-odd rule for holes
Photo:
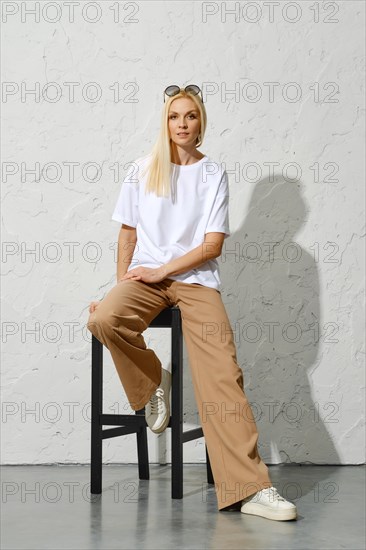
[[[204,464],[184,465],[184,497],[170,496],[170,465],[103,466],[102,496],[89,466],[4,466],[1,548],[338,549],[365,548],[363,466],[269,466],[273,484],[298,508],[278,522],[219,512]],[[287,493],[286,493],[287,487]]]

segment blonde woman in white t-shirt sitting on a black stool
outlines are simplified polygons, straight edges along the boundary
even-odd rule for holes
[[[220,164],[197,150],[207,121],[200,92],[195,85],[164,92],[158,140],[133,163],[112,216],[122,223],[117,284],[91,303],[87,327],[108,347],[131,407],[145,406],[148,426],[160,433],[169,422],[171,374],[141,333],[164,308],[179,306],[218,509],[240,503],[243,513],[295,519],[296,506],[278,494],[258,454],[219,290],[229,187]]]

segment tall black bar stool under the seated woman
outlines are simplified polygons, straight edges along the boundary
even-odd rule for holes
[[[171,416],[168,428],[171,428],[172,498],[183,498],[183,444],[192,439],[203,437],[202,428],[183,431],[183,333],[182,319],[178,306],[161,311],[150,327],[171,328],[172,354],[172,393]],[[135,414],[103,413],[103,344],[92,335],[92,373],[91,373],[91,493],[102,492],[102,443],[103,439],[135,433],[137,437],[137,456],[139,479],[149,479],[149,455],[147,444],[147,424],[145,407]],[[103,429],[103,426],[116,426]],[[210,459],[206,450],[207,483],[214,483]]]

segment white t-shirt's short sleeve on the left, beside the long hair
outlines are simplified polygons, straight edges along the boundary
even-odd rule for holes
[[[138,186],[136,166],[132,167],[122,182],[122,187],[112,214],[112,220],[136,227],[138,222]]]

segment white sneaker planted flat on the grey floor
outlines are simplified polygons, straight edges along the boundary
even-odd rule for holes
[[[240,511],[243,514],[262,516],[277,521],[296,519],[297,517],[295,504],[281,497],[275,487],[267,487],[242,500]]]

